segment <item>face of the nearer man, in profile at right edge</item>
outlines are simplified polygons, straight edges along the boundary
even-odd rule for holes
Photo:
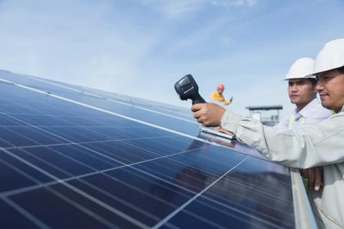
[[[338,72],[338,69],[332,69],[316,74],[316,79],[321,105],[336,113],[341,111],[344,105],[344,74]]]

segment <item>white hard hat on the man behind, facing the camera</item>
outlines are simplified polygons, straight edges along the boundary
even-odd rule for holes
[[[290,67],[286,76],[286,80],[289,80],[292,78],[315,78],[315,76],[312,75],[313,67],[314,67],[314,60],[312,58],[309,58],[309,57],[299,58]]]

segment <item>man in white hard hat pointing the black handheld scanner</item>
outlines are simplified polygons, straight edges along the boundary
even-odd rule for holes
[[[312,74],[321,105],[335,114],[297,132],[279,132],[213,103],[191,109],[204,126],[221,125],[272,161],[294,168],[323,166],[322,190],[308,193],[316,222],[319,228],[344,228],[344,39],[325,44]]]

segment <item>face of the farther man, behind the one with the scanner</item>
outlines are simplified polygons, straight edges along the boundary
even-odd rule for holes
[[[316,97],[315,85],[307,78],[292,78],[288,82],[288,94],[291,103],[303,108]]]

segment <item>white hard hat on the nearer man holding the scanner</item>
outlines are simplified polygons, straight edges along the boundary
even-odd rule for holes
[[[329,71],[344,66],[344,39],[326,43],[316,56],[312,74]]]

